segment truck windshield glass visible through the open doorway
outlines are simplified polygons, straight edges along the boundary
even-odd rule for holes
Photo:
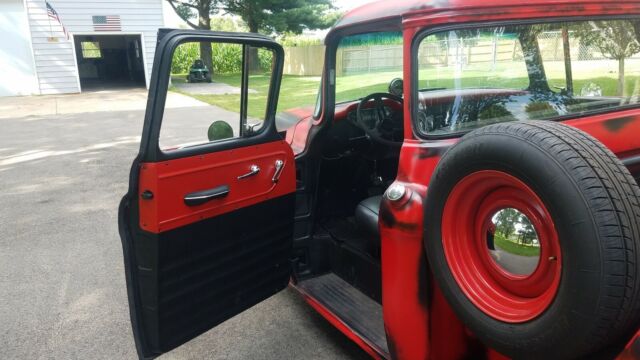
[[[336,54],[336,103],[388,92],[402,77],[402,33],[374,32],[344,37]]]

